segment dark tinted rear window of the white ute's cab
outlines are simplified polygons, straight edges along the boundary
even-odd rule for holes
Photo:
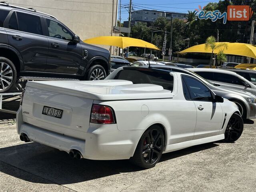
[[[128,80],[133,82],[133,84],[155,84],[162,86],[164,89],[173,90],[173,76],[168,72],[127,68],[120,70],[114,79]]]

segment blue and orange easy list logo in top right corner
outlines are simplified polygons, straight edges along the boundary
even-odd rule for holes
[[[198,19],[210,19],[215,22],[218,19],[223,18],[223,24],[228,21],[248,21],[252,17],[253,11],[250,6],[247,5],[229,5],[227,7],[227,12],[221,13],[219,10],[204,12],[201,10],[198,13]]]

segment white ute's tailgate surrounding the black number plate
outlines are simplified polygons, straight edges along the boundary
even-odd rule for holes
[[[83,139],[89,127],[92,103],[93,99],[27,87],[22,118],[39,128]],[[55,109],[55,114],[46,115],[48,108]]]

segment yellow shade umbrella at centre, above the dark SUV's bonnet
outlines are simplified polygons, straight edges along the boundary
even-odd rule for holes
[[[120,48],[126,47],[144,47],[149,49],[160,50],[157,46],[143,41],[141,39],[135,39],[130,37],[120,37],[120,36],[100,36],[91,39],[84,40],[88,44],[98,44],[98,45],[112,45]]]

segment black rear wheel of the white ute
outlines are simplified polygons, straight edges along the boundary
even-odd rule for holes
[[[142,168],[154,167],[164,150],[164,132],[158,125],[152,125],[141,136],[130,161]]]

